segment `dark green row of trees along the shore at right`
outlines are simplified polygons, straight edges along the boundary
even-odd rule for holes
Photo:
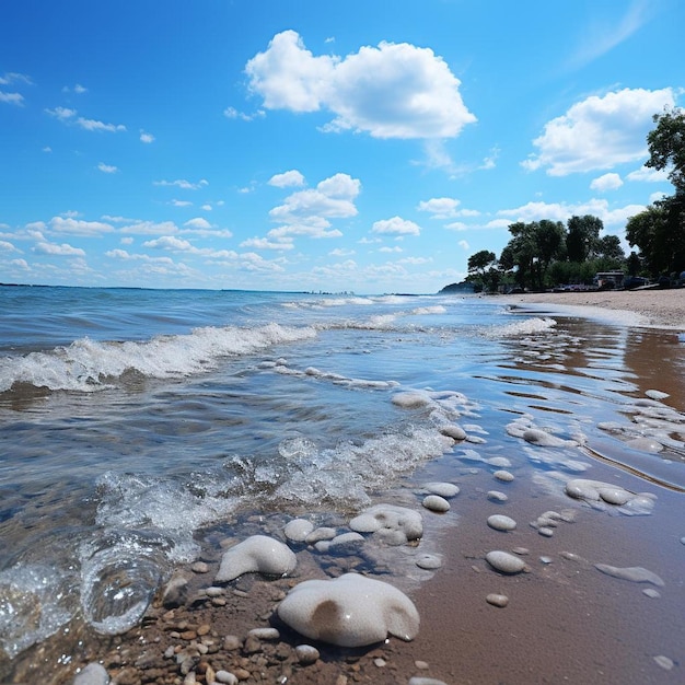
[[[545,290],[560,283],[590,286],[600,271],[623,271],[649,279],[685,279],[685,112],[664,109],[653,117],[647,136],[646,166],[666,170],[674,186],[664,196],[630,217],[626,240],[628,256],[616,235],[600,235],[600,218],[573,216],[566,224],[543,219],[509,227],[511,239],[499,257],[481,249],[468,258],[466,281],[497,291],[501,286]]]

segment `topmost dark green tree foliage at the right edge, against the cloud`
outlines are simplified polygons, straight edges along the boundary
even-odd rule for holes
[[[669,169],[677,193],[685,193],[685,111],[674,107],[653,117],[657,128],[647,135],[649,160],[645,166]]]

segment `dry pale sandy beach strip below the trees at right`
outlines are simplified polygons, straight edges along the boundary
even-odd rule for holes
[[[562,314],[597,316],[623,314],[626,323],[638,326],[685,330],[685,289],[606,290],[587,292],[545,292],[504,295],[515,305],[553,305]]]

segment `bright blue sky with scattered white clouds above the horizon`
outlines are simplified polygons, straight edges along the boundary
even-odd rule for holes
[[[518,220],[623,237],[680,0],[3,0],[0,281],[436,292]],[[626,246],[627,247],[627,246]]]

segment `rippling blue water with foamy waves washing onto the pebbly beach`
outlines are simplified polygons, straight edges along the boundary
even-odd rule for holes
[[[653,515],[685,492],[685,348],[630,323],[498,298],[0,288],[0,680],[49,640],[77,653],[74,623],[137,625],[207,531],[341,521],[431,464],[564,499],[601,463],[653,495],[616,515]]]

